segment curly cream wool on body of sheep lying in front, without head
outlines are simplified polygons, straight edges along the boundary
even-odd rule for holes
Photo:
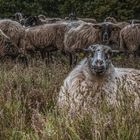
[[[84,59],[70,72],[61,87],[58,106],[68,114],[80,111],[94,112],[103,99],[108,105],[120,105],[119,98],[132,96],[134,105],[139,105],[140,71],[135,69],[114,68],[110,65],[104,76],[93,75]]]

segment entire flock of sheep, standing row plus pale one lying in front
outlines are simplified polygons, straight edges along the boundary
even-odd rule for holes
[[[90,55],[76,66],[61,87],[58,106],[70,114],[79,110],[93,110],[99,100],[119,105],[118,95],[132,95],[134,107],[139,106],[140,70],[114,68],[111,57],[115,53],[140,54],[139,20],[117,22],[108,17],[97,23],[70,15],[65,19],[43,15],[23,18],[15,14],[15,21],[0,20],[0,56],[35,57],[42,59],[51,52],[61,51],[73,57],[80,51]],[[119,94],[120,93],[120,94]],[[95,112],[94,112],[95,113]]]

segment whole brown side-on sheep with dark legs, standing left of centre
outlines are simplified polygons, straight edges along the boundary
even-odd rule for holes
[[[66,24],[45,24],[25,30],[25,50],[34,53],[40,51],[42,58],[46,52],[64,49]]]

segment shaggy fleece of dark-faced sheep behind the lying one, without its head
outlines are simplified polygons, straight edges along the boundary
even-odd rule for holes
[[[98,43],[100,41],[98,34],[99,30],[96,30],[93,24],[81,22],[79,26],[71,28],[65,34],[65,50],[68,52],[75,52],[95,42]]]

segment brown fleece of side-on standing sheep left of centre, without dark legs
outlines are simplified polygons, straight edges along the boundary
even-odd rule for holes
[[[53,45],[62,48],[65,24],[46,24],[26,29],[26,41],[33,46]]]

